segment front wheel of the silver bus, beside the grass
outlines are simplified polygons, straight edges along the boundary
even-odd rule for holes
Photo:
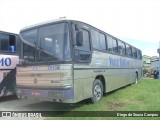
[[[102,99],[103,96],[103,85],[100,80],[95,80],[92,86],[92,103],[97,103]]]

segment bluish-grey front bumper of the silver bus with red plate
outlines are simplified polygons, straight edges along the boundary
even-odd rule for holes
[[[67,100],[74,100],[74,88],[24,88],[16,87],[16,94],[18,98],[38,98],[54,102],[64,102]]]

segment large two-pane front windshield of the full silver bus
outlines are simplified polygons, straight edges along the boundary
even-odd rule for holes
[[[29,62],[70,60],[67,23],[38,27],[23,31],[20,35],[24,41],[27,41],[23,43],[23,58],[25,60]]]

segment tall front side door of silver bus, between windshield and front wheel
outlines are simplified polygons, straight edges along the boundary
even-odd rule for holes
[[[75,27],[75,47],[74,47],[74,96],[75,101],[85,99],[84,78],[87,66],[90,63],[91,48],[89,41],[89,31],[79,26]]]

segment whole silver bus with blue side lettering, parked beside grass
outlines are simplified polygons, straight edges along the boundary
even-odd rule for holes
[[[104,93],[141,78],[141,50],[80,21],[60,19],[25,27],[20,38],[19,98],[96,103]]]

